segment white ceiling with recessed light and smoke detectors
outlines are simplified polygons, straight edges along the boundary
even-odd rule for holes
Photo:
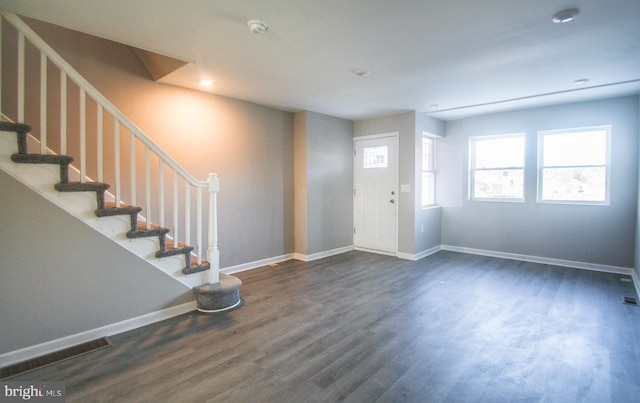
[[[554,24],[566,8],[578,18]],[[640,94],[640,0],[0,0],[191,62],[161,81],[351,120]],[[269,26],[263,35],[247,21]],[[370,71],[358,77],[354,69]],[[576,85],[574,80],[588,78]],[[438,105],[437,107],[432,105]]]

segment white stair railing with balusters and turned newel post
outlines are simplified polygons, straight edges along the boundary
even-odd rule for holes
[[[171,228],[170,238],[174,247],[191,245],[192,237],[195,238],[192,246],[198,264],[203,263],[206,252],[206,260],[211,267],[209,282],[219,282],[216,195],[220,184],[217,175],[209,174],[205,181],[193,178],[24,21],[12,13],[2,12],[1,15],[0,43],[10,45],[0,51],[0,68],[3,58],[11,61],[15,57],[15,76],[8,77],[10,72],[5,71],[0,74],[0,88],[4,84],[12,89],[0,94],[0,113],[13,116],[17,122],[30,124],[34,132],[38,130],[34,135],[40,142],[40,153],[72,155],[74,166],[79,169],[80,182],[94,177],[99,182],[110,183],[110,197],[116,207],[125,200],[127,204],[143,207],[144,217],[141,219],[147,228],[151,228],[152,222]],[[4,29],[3,20],[9,22],[15,31]],[[8,38],[2,38],[3,33]],[[12,38],[15,41],[12,42]],[[37,71],[35,77],[34,71]],[[53,75],[51,71],[54,71]],[[39,80],[39,88],[27,85],[27,76],[35,82]],[[15,85],[7,85],[11,82]],[[35,104],[39,104],[39,114],[26,110],[27,104],[30,108],[34,105],[34,97],[37,98]],[[50,105],[52,98],[56,98],[59,104],[55,108]],[[56,108],[59,108],[57,116],[47,113]],[[27,117],[30,122],[25,122]],[[33,120],[38,124],[33,124]],[[50,135],[54,131],[52,128],[59,132],[59,136]],[[73,133],[74,130],[77,133]],[[69,149],[77,154],[70,153]],[[183,192],[179,190],[181,185],[184,186]],[[209,209],[206,214],[203,211],[203,189],[208,193]],[[140,204],[139,196],[144,198]],[[192,222],[195,222],[195,229]],[[206,251],[203,241],[205,222],[208,234]]]

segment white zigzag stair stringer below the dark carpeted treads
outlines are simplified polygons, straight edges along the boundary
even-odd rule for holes
[[[160,249],[160,241],[157,237],[127,238],[126,232],[130,229],[128,216],[96,217],[97,204],[94,192],[55,190],[54,184],[60,180],[59,166],[18,164],[11,161],[11,155],[18,151],[15,136],[15,132],[0,132],[0,169],[185,286],[194,288],[208,282],[206,271],[189,275],[182,273],[183,255],[156,258],[155,253]]]

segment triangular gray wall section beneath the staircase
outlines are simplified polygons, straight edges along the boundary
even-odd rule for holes
[[[0,189],[0,354],[193,300],[4,171]]]

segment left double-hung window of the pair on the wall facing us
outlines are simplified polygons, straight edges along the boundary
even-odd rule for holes
[[[524,201],[524,133],[471,137],[472,200]]]

